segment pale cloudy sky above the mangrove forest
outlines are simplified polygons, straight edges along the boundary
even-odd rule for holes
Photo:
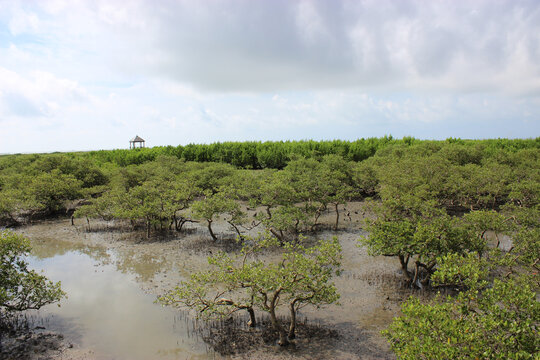
[[[540,1],[0,0],[0,153],[540,136]]]

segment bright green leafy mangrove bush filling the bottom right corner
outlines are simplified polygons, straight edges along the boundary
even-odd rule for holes
[[[508,270],[517,262],[512,252],[497,251],[483,259],[475,253],[441,257],[434,285],[459,292],[427,303],[411,297],[402,305],[403,315],[384,331],[398,358],[536,359],[538,275],[497,276],[501,265]]]

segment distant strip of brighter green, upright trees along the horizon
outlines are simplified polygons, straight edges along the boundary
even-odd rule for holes
[[[112,163],[119,166],[140,165],[154,161],[160,155],[174,156],[185,161],[219,162],[231,164],[244,169],[283,169],[287,163],[296,157],[320,158],[324,155],[339,155],[346,160],[362,161],[377,153],[377,151],[396,145],[459,144],[467,147],[479,147],[490,154],[499,150],[515,152],[522,149],[540,148],[540,138],[534,140],[522,139],[490,139],[490,140],[461,140],[449,138],[445,141],[418,140],[412,137],[394,139],[392,136],[382,138],[359,139],[355,141],[252,141],[252,142],[223,142],[213,144],[189,144],[179,146],[156,146],[142,149],[117,149],[90,151],[86,153],[69,154],[73,157],[90,158],[98,164]]]

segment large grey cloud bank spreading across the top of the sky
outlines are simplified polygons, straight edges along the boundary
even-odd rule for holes
[[[126,76],[175,79],[203,91],[392,86],[527,94],[540,88],[535,1],[34,5],[40,10],[14,11],[17,33],[49,33],[90,60],[99,54]]]

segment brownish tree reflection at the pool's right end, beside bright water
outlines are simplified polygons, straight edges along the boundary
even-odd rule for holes
[[[118,253],[116,267],[123,273],[135,274],[142,281],[153,279],[154,276],[170,268],[170,262],[165,256],[140,253],[126,250]]]

